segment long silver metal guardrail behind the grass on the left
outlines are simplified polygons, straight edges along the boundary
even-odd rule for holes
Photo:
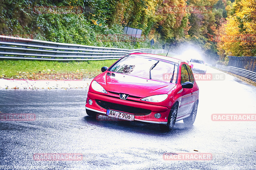
[[[0,35],[0,58],[32,60],[110,60],[130,53],[166,53],[164,49],[123,49],[40,41]]]

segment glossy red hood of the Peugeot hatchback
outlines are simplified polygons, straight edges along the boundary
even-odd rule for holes
[[[114,73],[115,77],[107,73]],[[116,72],[105,71],[97,76],[96,80],[106,91],[125,93],[130,96],[148,97],[157,94],[167,94],[175,84],[161,82]]]

